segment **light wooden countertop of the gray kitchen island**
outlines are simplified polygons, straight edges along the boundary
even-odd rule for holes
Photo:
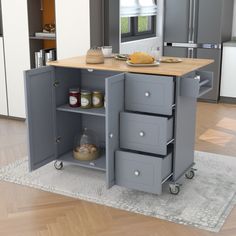
[[[170,57],[168,57],[170,58]],[[58,61],[52,61],[47,65],[57,67],[69,67],[80,69],[94,69],[94,70],[110,70],[110,71],[122,71],[133,72],[143,74],[156,74],[156,75],[171,75],[171,76],[183,76],[192,71],[198,70],[214,62],[214,60],[208,59],[188,59],[181,58],[183,61],[180,63],[161,63],[156,67],[132,67],[128,66],[124,61],[119,61],[114,58],[105,58],[104,64],[86,64],[85,56],[68,58]]]

